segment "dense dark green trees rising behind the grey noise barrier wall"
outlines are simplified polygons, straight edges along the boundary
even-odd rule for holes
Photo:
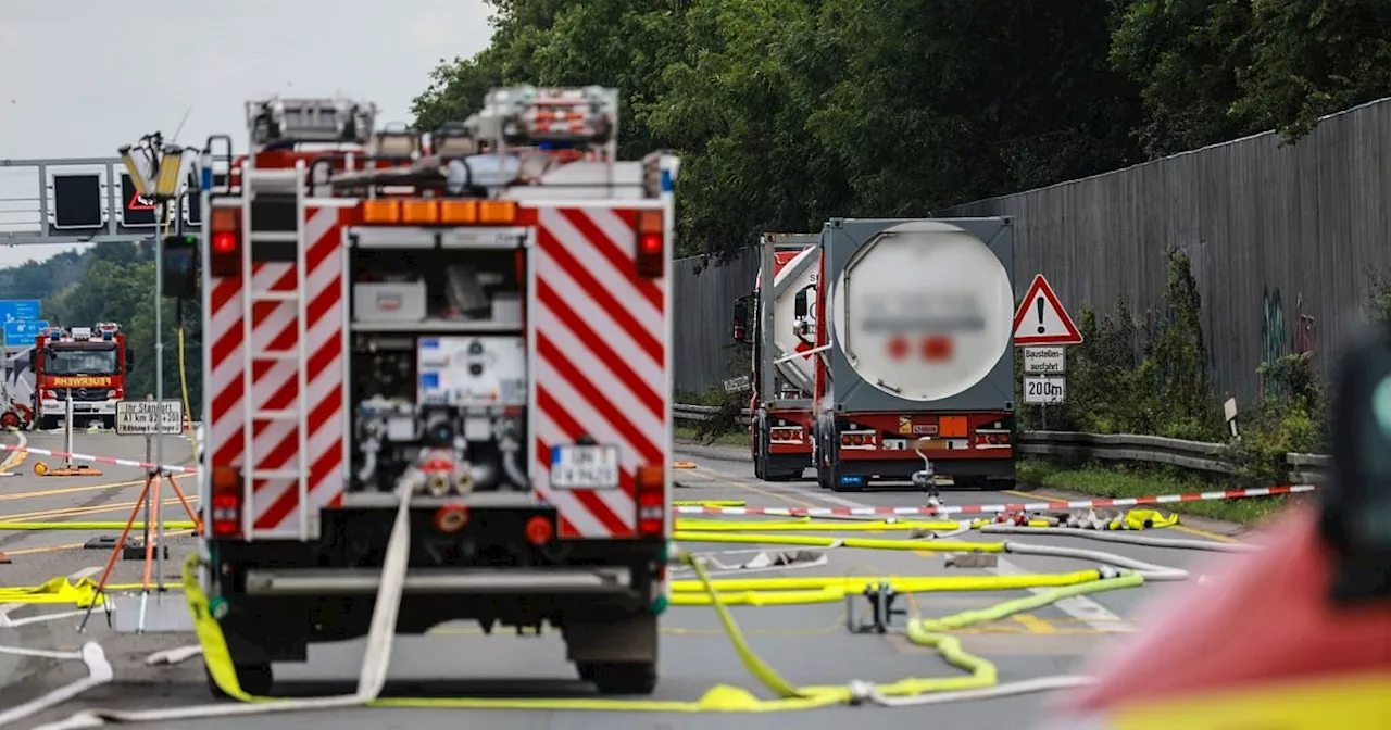
[[[1391,82],[1380,0],[490,1],[417,124],[499,83],[616,86],[623,153],[683,157],[683,253],[1295,138]]]

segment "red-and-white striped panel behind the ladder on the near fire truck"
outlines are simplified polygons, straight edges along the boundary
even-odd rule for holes
[[[306,307],[305,381],[307,384],[306,442],[309,451],[309,503],[299,503],[298,480],[256,480],[249,509],[252,535],[300,537],[300,509],[309,524],[319,510],[342,499],[344,469],[344,260],[338,207],[306,206]],[[295,291],[294,263],[255,263],[250,286],[260,291]],[[242,279],[246,277],[243,275]],[[245,410],[242,405],[246,356],[243,348],[243,281],[214,278],[209,288],[207,331],[211,375],[207,452],[214,466],[243,466]],[[252,409],[256,412],[299,409],[299,363],[296,359],[266,359],[270,352],[298,349],[298,303],[252,303]],[[294,420],[253,419],[255,470],[295,469],[299,424]],[[313,530],[313,528],[310,528]],[[307,535],[306,535],[307,537]]]

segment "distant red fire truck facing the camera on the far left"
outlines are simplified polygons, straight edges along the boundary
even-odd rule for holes
[[[63,425],[70,398],[74,424],[100,421],[115,428],[115,403],[125,399],[125,374],[132,364],[115,323],[39,332],[33,346],[36,428]]]

